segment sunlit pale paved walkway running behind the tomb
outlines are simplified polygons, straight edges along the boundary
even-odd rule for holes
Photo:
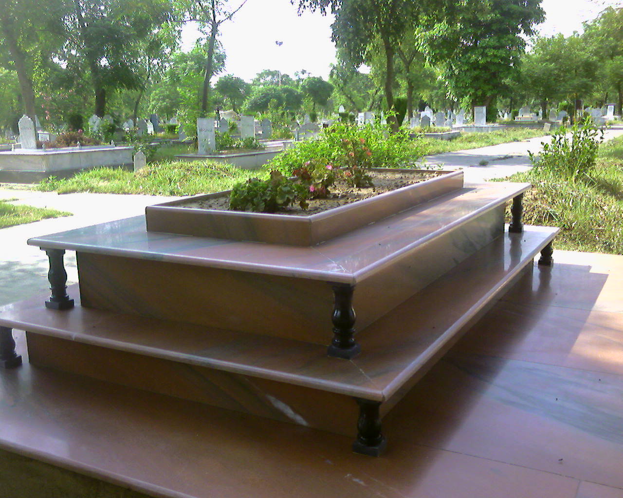
[[[623,129],[610,130],[606,139],[623,135]],[[528,151],[537,153],[541,142],[549,137],[499,144],[438,154],[426,157],[429,164],[442,164],[448,169],[465,169],[465,181],[482,182],[490,178],[509,176],[530,169]],[[487,161],[486,166],[479,166]],[[73,228],[95,225],[143,214],[145,206],[176,199],[151,195],[63,194],[37,192],[28,186],[0,184],[0,199],[16,199],[14,204],[50,207],[74,214],[71,217],[42,220],[0,230],[0,305],[19,301],[47,287],[47,257],[39,248],[26,245],[26,240],[39,235],[64,232]],[[65,255],[69,283],[78,280],[75,255]]]

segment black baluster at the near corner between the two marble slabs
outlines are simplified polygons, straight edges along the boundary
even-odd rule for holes
[[[353,290],[350,284],[333,284],[335,306],[333,308],[333,341],[327,354],[335,358],[350,360],[361,352],[361,347],[354,341]]]

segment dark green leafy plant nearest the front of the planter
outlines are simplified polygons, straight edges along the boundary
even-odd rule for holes
[[[268,180],[251,178],[236,184],[229,198],[229,209],[274,213],[297,201],[305,208],[308,192],[303,184],[283,176],[279,171],[271,171]]]

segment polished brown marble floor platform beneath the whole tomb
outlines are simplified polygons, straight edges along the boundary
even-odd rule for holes
[[[380,458],[345,436],[27,362],[0,375],[2,448],[155,497],[623,498],[623,256],[554,261],[390,411]],[[0,496],[44,489],[42,476],[0,471]]]

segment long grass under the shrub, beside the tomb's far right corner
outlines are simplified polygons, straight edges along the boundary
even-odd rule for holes
[[[530,182],[524,223],[559,227],[554,247],[623,254],[623,137],[599,148],[594,171],[565,181],[535,167],[500,181]]]

